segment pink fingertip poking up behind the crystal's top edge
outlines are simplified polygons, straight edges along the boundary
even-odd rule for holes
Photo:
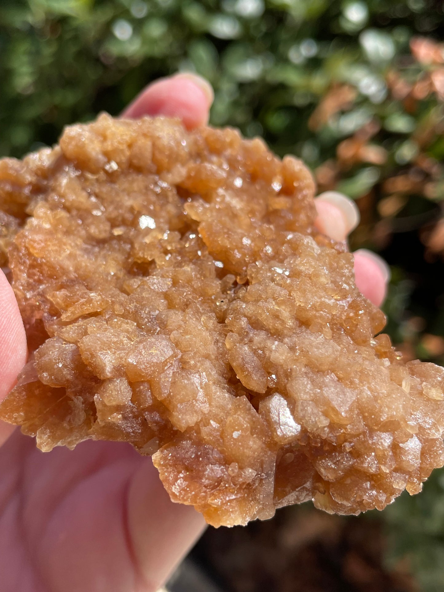
[[[166,115],[179,117],[186,128],[208,123],[213,102],[210,83],[192,73],[180,73],[147,86],[124,111],[124,117]]]

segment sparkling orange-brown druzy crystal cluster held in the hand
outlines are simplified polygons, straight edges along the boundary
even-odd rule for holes
[[[442,466],[442,368],[403,363],[293,157],[231,129],[113,120],[0,162],[0,258],[31,358],[0,406],[43,451],[153,455],[215,525],[340,514]]]

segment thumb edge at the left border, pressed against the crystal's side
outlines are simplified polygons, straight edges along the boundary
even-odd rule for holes
[[[3,400],[26,363],[27,344],[14,292],[0,271],[0,401]]]

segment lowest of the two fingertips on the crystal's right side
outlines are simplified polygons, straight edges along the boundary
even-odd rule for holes
[[[368,300],[376,306],[381,306],[387,295],[390,267],[378,255],[367,249],[359,249],[353,256],[356,286]]]

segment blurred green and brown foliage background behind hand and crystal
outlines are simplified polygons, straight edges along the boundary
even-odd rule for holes
[[[0,156],[194,70],[211,123],[302,157],[390,264],[388,332],[444,364],[443,0],[1,0]],[[444,471],[382,513],[209,529],[174,592],[444,591]]]

